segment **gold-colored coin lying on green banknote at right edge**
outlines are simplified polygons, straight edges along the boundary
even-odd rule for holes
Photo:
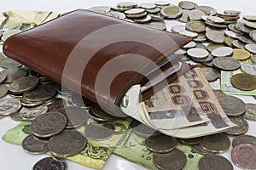
[[[256,77],[247,73],[239,73],[231,77],[231,83],[241,90],[253,90],[256,88]]]

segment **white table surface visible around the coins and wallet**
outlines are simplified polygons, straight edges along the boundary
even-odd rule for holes
[[[0,12],[6,10],[41,10],[41,11],[55,11],[58,13],[64,13],[76,8],[89,8],[96,5],[108,5],[112,6],[119,2],[124,2],[125,0],[1,0],[0,1]],[[129,0],[129,2],[137,2],[137,3],[152,3],[154,0]],[[173,4],[179,2],[177,0],[170,1]],[[223,13],[225,9],[236,9],[241,11],[241,15],[245,14],[253,14],[256,15],[255,10],[255,1],[253,0],[195,0],[195,3],[199,5],[209,5],[213,8],[216,8],[218,12]],[[167,23],[170,28],[172,22]],[[253,97],[245,97],[245,96],[237,96],[243,99],[246,103],[256,103],[256,100]],[[14,122],[9,117],[0,120],[0,137],[3,137],[3,134],[12,127],[15,127],[20,122]],[[249,122],[250,127],[247,134],[255,135],[256,136],[256,122]],[[222,156],[227,157],[230,159],[230,150],[222,154]],[[8,144],[0,139],[0,169],[1,170],[28,170],[32,169],[33,164],[44,158],[43,156],[33,156],[27,154],[25,151],[21,149],[20,146],[14,144]],[[69,170],[89,170],[91,168],[81,166],[77,163],[72,161],[67,161],[68,169]],[[125,159],[119,156],[110,156],[107,164],[103,167],[104,170],[143,170],[146,169],[140,165],[132,163],[131,161],[126,161]],[[239,169],[234,165],[234,169]]]

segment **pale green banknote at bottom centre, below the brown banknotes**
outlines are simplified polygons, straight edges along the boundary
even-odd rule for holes
[[[192,150],[190,146],[177,144],[177,149],[182,150],[187,156],[187,164],[183,170],[196,170],[198,169],[198,161],[202,155]],[[144,139],[137,136],[131,130],[125,132],[124,137],[120,140],[118,147],[113,150],[113,153],[124,157],[129,161],[136,162],[143,167],[149,169],[159,169],[155,167],[153,162],[153,152],[148,150],[144,144]]]

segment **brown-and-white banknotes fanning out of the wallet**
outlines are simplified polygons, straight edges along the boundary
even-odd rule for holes
[[[128,96],[130,95],[129,93],[131,93],[129,96],[131,98],[132,95],[136,96],[137,90],[138,88],[134,87],[134,89],[128,91]],[[176,104],[177,107],[168,107],[171,102]],[[182,77],[179,77],[177,82],[172,82],[155,94],[151,100],[138,104],[137,110],[134,109],[136,108],[135,104],[131,106],[130,108],[128,105],[127,110],[126,108],[122,109],[127,114],[130,111],[132,113],[131,116],[135,119],[147,124],[149,127],[158,129],[160,133],[177,138],[189,139],[220,133],[236,126],[225,115],[221,105],[218,103],[218,99],[213,94],[212,88],[203,76],[201,68],[188,71]],[[132,112],[132,108],[136,112]],[[170,110],[166,111],[168,109]],[[202,111],[207,116],[207,122],[183,126],[186,121],[196,120],[195,122],[197,122],[199,116],[202,116],[199,111]],[[184,113],[187,113],[187,115]],[[179,120],[182,121],[178,122]],[[169,122],[169,124],[166,122]]]

